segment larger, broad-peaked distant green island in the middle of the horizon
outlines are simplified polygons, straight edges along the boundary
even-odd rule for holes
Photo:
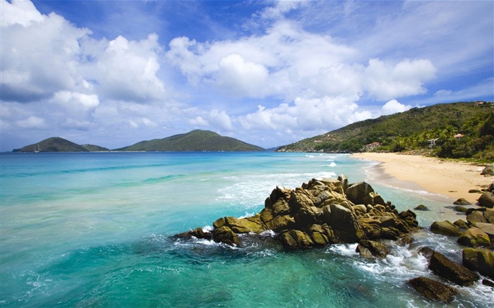
[[[262,147],[209,130],[193,130],[163,139],[141,141],[115,151],[202,152],[202,151],[264,151]]]

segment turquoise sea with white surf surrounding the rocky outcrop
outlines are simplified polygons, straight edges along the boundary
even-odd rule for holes
[[[452,200],[399,189],[376,163],[344,154],[2,153],[0,307],[494,307],[492,289],[431,303],[406,285],[433,277],[417,254],[461,261],[454,239],[428,231],[458,216]],[[368,180],[401,210],[425,204],[424,230],[386,259],[356,245],[286,252],[272,241],[229,247],[171,235],[251,216],[277,185],[315,177]],[[402,183],[403,184],[403,183]],[[402,186],[402,185],[400,185]],[[402,187],[403,188],[403,187]]]

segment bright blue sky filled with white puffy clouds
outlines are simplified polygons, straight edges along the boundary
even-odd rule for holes
[[[0,0],[0,151],[191,130],[277,147],[494,101],[494,1]]]

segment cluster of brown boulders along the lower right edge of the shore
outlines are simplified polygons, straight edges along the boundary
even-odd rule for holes
[[[491,199],[494,199],[494,184],[490,185],[478,199],[478,205],[481,207],[463,207],[470,205],[464,199],[454,202],[460,205],[454,209],[463,212],[466,221],[458,219],[453,223],[433,222],[430,226],[433,233],[457,238],[457,243],[466,247],[462,250],[462,264],[457,264],[439,252],[424,247],[421,253],[428,258],[429,269],[433,273],[457,285],[471,285],[481,279],[476,272],[494,279],[494,209],[492,209],[493,203],[489,202]],[[428,278],[415,278],[409,283],[417,292],[421,292],[431,300],[449,302],[457,293],[454,288]],[[484,278],[482,283],[494,288],[494,283],[488,279]]]

